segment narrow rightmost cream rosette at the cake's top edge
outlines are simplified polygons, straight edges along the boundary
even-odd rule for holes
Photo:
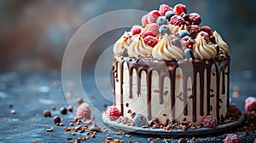
[[[230,49],[227,43],[224,42],[222,37],[218,34],[217,31],[213,31],[213,37],[215,37],[215,41],[218,44],[219,52],[222,54],[229,54]]]

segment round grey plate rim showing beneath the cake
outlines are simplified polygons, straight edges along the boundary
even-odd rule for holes
[[[128,126],[127,124],[111,121],[105,113],[102,113],[103,123],[107,124],[108,127],[110,128],[123,130],[126,132],[161,135],[161,136],[199,135],[199,134],[212,134],[212,133],[224,132],[225,130],[233,129],[234,127],[240,125],[243,119],[244,119],[244,116],[242,115],[241,117],[239,117],[237,121],[234,121],[232,123],[225,123],[214,128],[200,128],[200,129],[186,129],[186,130],[172,129],[172,131],[170,131],[165,129],[150,129],[150,128],[142,128],[142,127],[136,127],[136,126]]]

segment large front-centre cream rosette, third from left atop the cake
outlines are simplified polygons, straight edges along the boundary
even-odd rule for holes
[[[183,50],[172,44],[172,40],[166,34],[159,43],[154,46],[152,56],[157,60],[182,60]]]

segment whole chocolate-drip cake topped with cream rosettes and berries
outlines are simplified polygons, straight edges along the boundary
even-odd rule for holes
[[[185,5],[162,4],[119,37],[113,45],[114,101],[108,117],[128,118],[136,126],[157,121],[161,127],[224,121],[230,49],[218,31],[200,24],[201,15],[188,13]]]

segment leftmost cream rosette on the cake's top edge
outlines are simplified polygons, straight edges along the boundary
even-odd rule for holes
[[[123,54],[129,43],[131,43],[131,35],[125,31],[124,35],[120,37],[116,43],[113,44],[113,54]]]

